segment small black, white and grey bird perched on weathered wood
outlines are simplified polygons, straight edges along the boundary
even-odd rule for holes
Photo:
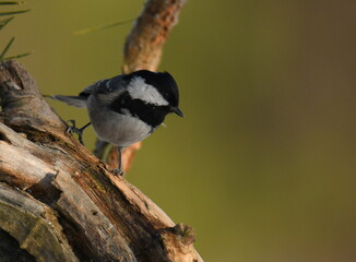
[[[118,147],[119,165],[116,174],[122,174],[121,153],[124,147],[147,138],[165,120],[169,112],[180,117],[179,93],[168,72],[140,70],[112,79],[100,80],[87,86],[79,96],[54,95],[51,98],[70,106],[87,108],[91,122],[69,130],[79,134],[90,124],[97,136]]]

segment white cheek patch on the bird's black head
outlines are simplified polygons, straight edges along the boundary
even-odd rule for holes
[[[134,78],[128,87],[128,92],[133,99],[141,99],[147,104],[156,106],[168,106],[168,102],[152,85],[144,82],[144,79]]]

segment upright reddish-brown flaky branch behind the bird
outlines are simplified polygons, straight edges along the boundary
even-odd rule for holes
[[[177,24],[185,2],[186,0],[146,1],[124,44],[123,73],[140,69],[157,70],[163,46],[169,32]],[[123,171],[130,168],[134,153],[141,147],[141,144],[138,142],[124,150],[122,155]],[[100,157],[107,145],[100,144],[100,148],[96,147],[95,155]],[[106,160],[111,167],[117,167],[116,148],[110,151]]]

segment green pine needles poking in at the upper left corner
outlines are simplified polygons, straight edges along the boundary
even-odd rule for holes
[[[23,4],[23,3],[25,3],[25,2],[1,1],[0,2],[0,5],[16,5],[16,4]],[[3,11],[3,12],[0,12],[0,16],[15,15],[15,14],[21,14],[21,13],[26,13],[28,11],[29,11],[29,9],[26,9],[26,10],[17,10],[17,11]],[[3,29],[3,27],[5,27],[13,19],[14,19],[14,16],[10,16],[8,19],[1,20],[0,21],[0,31]],[[31,53],[31,52],[25,52],[25,53],[12,56],[12,57],[5,57],[7,52],[9,51],[10,47],[12,46],[14,39],[15,39],[15,37],[12,37],[10,39],[10,41],[8,43],[8,45],[4,47],[4,49],[2,50],[2,52],[0,55],[0,61],[5,61],[5,60],[10,60],[10,59],[22,58],[22,57],[28,56]]]

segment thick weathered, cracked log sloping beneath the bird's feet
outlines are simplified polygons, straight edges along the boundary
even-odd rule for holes
[[[192,228],[68,134],[15,61],[0,66],[0,98],[2,261],[202,261]]]

